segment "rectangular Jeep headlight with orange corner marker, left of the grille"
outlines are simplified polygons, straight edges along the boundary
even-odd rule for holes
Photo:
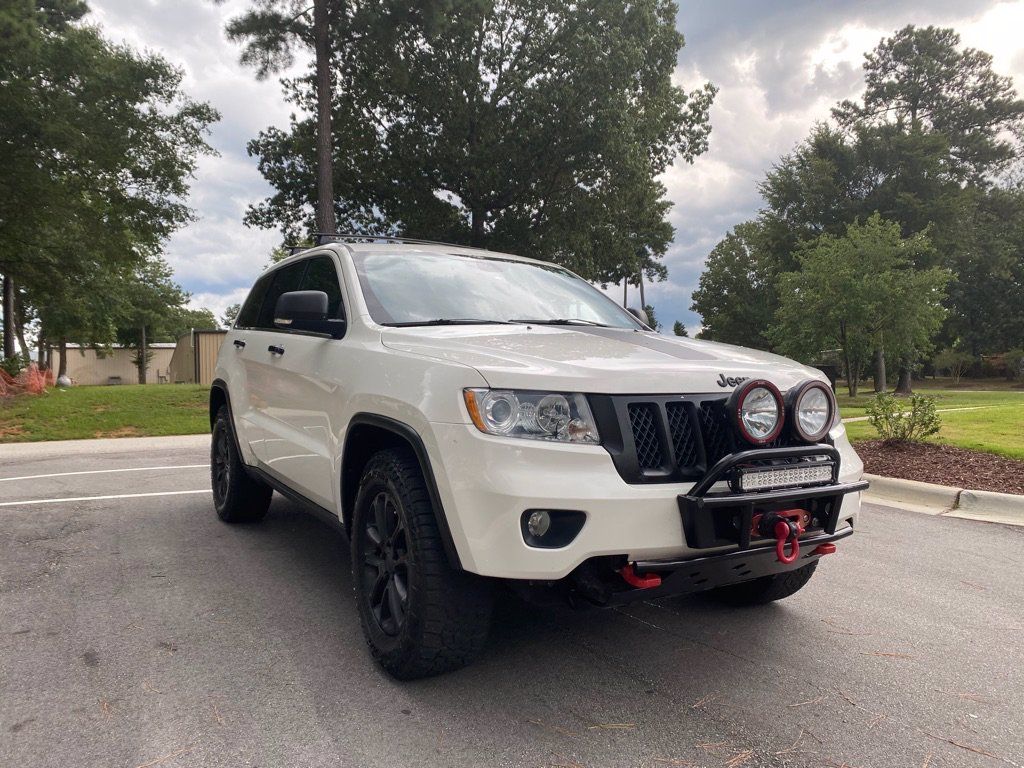
[[[463,396],[473,424],[487,434],[592,444],[601,441],[582,394],[466,389]]]

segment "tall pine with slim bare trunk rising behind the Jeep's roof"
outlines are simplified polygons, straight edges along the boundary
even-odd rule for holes
[[[223,2],[223,0],[216,0]],[[347,11],[355,2],[332,0],[257,0],[255,7],[231,19],[227,37],[245,43],[242,62],[254,66],[257,77],[290,67],[296,47],[312,49],[316,90],[316,225],[322,232],[338,230],[334,210],[334,133],[332,129],[332,67],[343,54],[349,30]],[[332,44],[333,43],[333,44]]]

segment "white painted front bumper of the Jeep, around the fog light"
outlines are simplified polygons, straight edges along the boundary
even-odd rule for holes
[[[672,562],[737,549],[736,542],[710,549],[687,542],[679,497],[691,493],[693,483],[627,483],[603,447],[493,437],[469,424],[433,423],[431,429],[426,441],[436,457],[438,493],[459,558],[471,572],[556,581],[605,555]],[[841,426],[831,437],[840,458],[838,482],[855,483],[860,459]],[[567,546],[534,548],[520,527],[528,509],[580,511],[587,519]],[[859,509],[859,493],[842,496],[834,530],[851,526]]]

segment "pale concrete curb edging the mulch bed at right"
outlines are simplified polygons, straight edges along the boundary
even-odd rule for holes
[[[864,479],[871,483],[863,496],[868,503],[897,506],[928,515],[1024,525],[1024,496],[880,475],[865,474]]]

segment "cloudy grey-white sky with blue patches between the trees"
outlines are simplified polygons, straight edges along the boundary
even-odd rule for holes
[[[703,259],[734,224],[760,205],[757,182],[781,155],[824,120],[836,101],[862,90],[864,51],[907,24],[956,29],[966,45],[994,56],[995,70],[1024,90],[1024,0],[681,0],[677,26],[686,36],[676,77],[707,80],[719,94],[709,152],[666,178],[676,240],[669,281],[648,292],[660,322],[699,322],[690,309]],[[275,80],[258,82],[238,63],[223,36],[226,19],[248,3],[228,0],[90,0],[108,37],[159,51],[185,72],[184,88],[221,113],[193,184],[198,220],[177,232],[168,260],[195,306],[219,314],[241,301],[280,241],[242,224],[246,207],[268,186],[246,155],[249,138],[284,126],[290,108]],[[618,294],[621,295],[621,294]],[[632,303],[632,302],[631,302]]]

